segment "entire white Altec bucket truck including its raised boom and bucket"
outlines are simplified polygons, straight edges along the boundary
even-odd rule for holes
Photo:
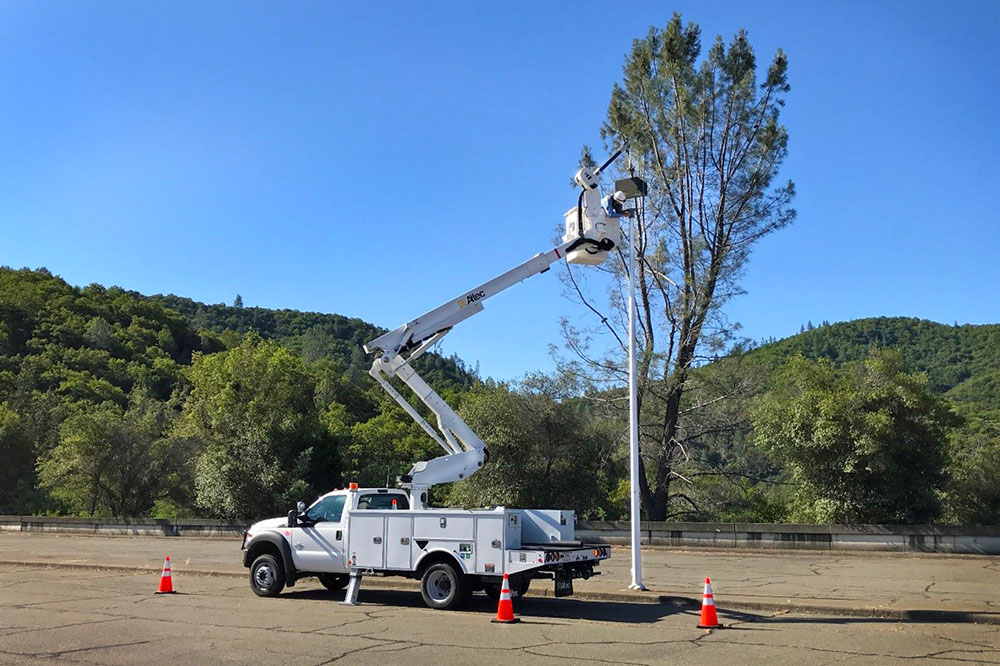
[[[244,534],[243,564],[250,569],[255,593],[274,596],[297,579],[316,576],[330,589],[350,585],[345,601],[352,603],[362,575],[406,576],[420,580],[428,606],[451,609],[476,590],[498,597],[505,573],[515,596],[539,578],[554,580],[556,596],[566,596],[573,593],[574,579],[596,575],[594,567],[610,556],[610,549],[577,541],[572,511],[427,506],[431,486],[468,478],[486,462],[487,452],[483,441],[410,363],[455,324],[481,312],[486,299],[547,271],[553,262],[603,261],[619,241],[610,207],[620,211],[620,203],[631,195],[619,191],[613,204],[602,201],[598,176],[620,153],[599,169],[577,172],[582,191],[577,206],[565,215],[561,245],[365,345],[366,352],[376,354],[372,377],[446,454],[416,463],[399,478],[401,489],[351,484],[323,495],[308,509],[300,502],[287,518],[252,525]],[[427,405],[436,417],[436,429],[393,387],[388,380],[393,376]]]

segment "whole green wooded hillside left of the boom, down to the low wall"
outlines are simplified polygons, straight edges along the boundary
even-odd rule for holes
[[[262,497],[233,486],[254,474],[264,511],[402,473],[436,444],[367,374],[381,332],[0,267],[0,513],[217,515],[218,498]],[[414,365],[439,391],[475,383],[454,357]]]

